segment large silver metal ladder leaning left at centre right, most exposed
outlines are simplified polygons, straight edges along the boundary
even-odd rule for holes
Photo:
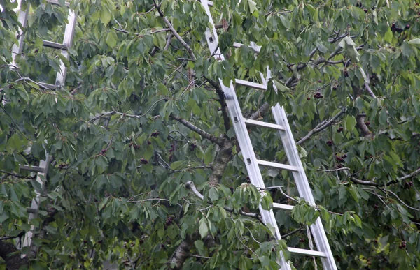
[[[212,1],[201,0],[202,6],[206,11],[207,15],[209,16],[209,22],[211,23],[211,29],[207,28],[205,33],[207,44],[209,45],[209,49],[211,54],[214,54],[214,57],[218,61],[223,61],[225,57],[221,54],[221,51],[218,48],[218,34],[216,32],[216,28],[214,27],[214,21],[210,13],[209,6],[213,6]],[[234,43],[234,47],[240,47],[240,43]],[[259,52],[259,47],[255,45],[251,45],[256,52]],[[263,84],[258,84],[255,82],[248,82],[245,80],[236,79],[236,84],[244,85],[246,87],[251,87],[254,89],[267,89],[267,82],[271,77],[270,70],[267,69],[267,78],[264,78],[261,74]],[[309,186],[306,174],[304,172],[304,168],[302,166],[302,161],[300,160],[299,154],[297,153],[297,148],[295,144],[295,140],[293,139],[293,133],[290,130],[290,126],[288,123],[288,119],[286,116],[286,112],[284,112],[283,107],[277,103],[274,107],[272,107],[272,113],[274,115],[274,119],[276,123],[265,123],[262,121],[255,121],[251,119],[244,119],[241,112],[241,107],[239,106],[239,102],[237,100],[237,95],[235,93],[235,88],[233,87],[232,81],[230,82],[230,86],[226,87],[223,84],[222,80],[219,79],[221,84],[221,88],[225,93],[226,104],[228,107],[228,111],[230,114],[230,119],[232,119],[233,127],[235,128],[235,133],[237,136],[237,140],[239,142],[239,147],[241,148],[242,156],[244,158],[244,163],[246,166],[246,170],[249,174],[249,179],[251,183],[256,186],[257,188],[265,189],[265,183],[262,179],[262,174],[259,168],[259,165],[266,166],[266,167],[274,167],[280,170],[289,170],[293,173],[293,177],[295,179],[295,183],[297,186],[297,190],[299,192],[300,197],[303,197],[309,204],[315,206],[314,197],[311,192],[311,188]],[[275,87],[274,87],[275,89]],[[281,142],[283,143],[284,150],[286,152],[286,156],[290,165],[280,164],[269,162],[265,160],[258,160],[255,156],[251,139],[249,138],[248,131],[246,129],[246,125],[251,126],[260,126],[264,128],[273,128],[275,130],[279,130],[279,136],[281,138]],[[273,203],[274,209],[283,209],[283,210],[291,210],[293,206],[288,204],[278,204]],[[267,211],[262,209],[260,205],[260,213],[262,216],[262,220],[265,224],[270,224],[275,229],[276,239],[280,240],[281,235],[279,232],[279,226],[276,223],[276,218],[274,217],[274,213],[272,210]],[[328,270],[335,270],[337,266],[335,265],[334,257],[332,256],[330,245],[328,244],[328,239],[325,235],[323,225],[321,223],[321,218],[317,218],[316,222],[311,225],[311,233],[316,243],[316,250],[307,250],[302,248],[288,248],[290,253],[300,254],[300,255],[307,255],[313,257],[321,257],[321,262],[323,264],[324,269]],[[286,262],[283,252],[280,252],[280,261],[279,264],[281,265],[281,269],[288,269],[290,270],[290,264]]]

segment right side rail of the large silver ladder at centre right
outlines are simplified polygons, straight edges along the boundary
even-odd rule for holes
[[[300,160],[299,153],[297,153],[297,147],[295,140],[293,139],[293,133],[290,130],[286,112],[284,112],[283,107],[280,107],[279,103],[272,107],[272,112],[274,114],[276,123],[285,127],[285,130],[279,130],[279,135],[281,137],[281,141],[283,142],[283,147],[290,165],[296,166],[298,169],[298,172],[292,173],[293,177],[295,178],[295,183],[299,195],[300,197],[303,197],[309,204],[315,206],[314,196],[312,195],[311,187],[309,186],[309,182],[304,172],[302,160]],[[323,268],[328,270],[336,270],[337,266],[335,265],[335,260],[332,256],[331,248],[323,229],[321,218],[317,218],[316,222],[311,225],[311,232],[318,250],[321,250],[326,254],[325,258],[321,258]]]

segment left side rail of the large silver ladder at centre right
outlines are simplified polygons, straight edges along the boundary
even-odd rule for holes
[[[214,21],[210,13],[209,9],[209,3],[207,0],[201,0],[202,6],[204,7],[204,10],[207,13],[207,16],[209,17],[209,22],[211,22],[211,25],[213,26],[212,29],[207,28],[205,32],[205,36],[207,39],[207,44],[209,45],[211,54],[214,54],[215,59],[218,61],[223,61],[225,57],[223,54],[221,54],[219,48],[218,48],[218,35],[216,32],[216,28],[214,27]],[[246,170],[248,171],[249,178],[251,180],[251,183],[254,186],[258,186],[259,188],[265,188],[264,181],[262,180],[262,174],[260,172],[260,168],[258,167],[257,158],[255,157],[255,153],[251,147],[251,139],[248,135],[248,131],[246,129],[246,124],[244,121],[244,117],[242,116],[242,112],[239,107],[239,102],[237,100],[237,96],[235,93],[235,89],[233,87],[232,81],[230,82],[230,87],[226,87],[225,84],[223,84],[223,81],[219,79],[219,83],[221,85],[222,91],[225,93],[226,98],[226,105],[228,107],[228,111],[230,114],[230,119],[232,120],[235,133],[237,135],[237,139],[239,142],[239,147],[241,147],[242,157],[244,159],[244,163],[246,166]],[[281,235],[279,232],[279,227],[276,223],[276,218],[274,216],[274,212],[272,210],[267,211],[265,209],[262,209],[261,204],[259,206],[262,221],[267,224],[269,223],[274,227],[274,237],[277,240],[281,239]],[[287,269],[291,270],[290,264],[286,262],[283,252],[280,251],[279,253],[279,263],[281,265],[281,269]]]

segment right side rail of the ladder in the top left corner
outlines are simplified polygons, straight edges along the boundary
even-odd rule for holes
[[[63,45],[69,49],[71,43],[73,43],[74,30],[76,28],[77,15],[76,11],[69,9],[69,15],[67,16],[68,23],[66,24],[66,30],[64,31]],[[66,58],[70,58],[69,50],[62,50],[62,55]],[[63,61],[60,60],[60,70],[57,72],[55,84],[58,86],[64,85],[66,81],[67,67]]]

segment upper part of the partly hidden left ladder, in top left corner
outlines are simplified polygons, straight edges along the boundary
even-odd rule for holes
[[[59,5],[58,0],[46,0],[48,3],[51,3],[53,5]],[[24,0],[22,0],[22,3]],[[21,3],[21,6],[22,6]],[[19,22],[22,24],[23,28],[27,27],[27,21],[28,21],[28,14],[29,14],[29,3],[27,3],[27,10],[20,10],[19,13]],[[69,15],[67,16],[68,23],[66,24],[66,30],[64,31],[64,38],[63,43],[55,43],[49,40],[42,40],[44,47],[50,47],[55,50],[61,50],[62,55],[69,59],[69,48],[71,47],[71,43],[73,43],[73,36],[74,36],[74,29],[76,27],[76,20],[77,16],[76,13],[70,9],[70,3],[66,2],[65,6],[69,8]],[[18,45],[13,45],[12,47],[12,65],[16,66],[15,58],[18,54],[22,52],[23,47],[23,40],[25,39],[25,31],[24,29],[19,29],[18,31]],[[48,89],[59,89],[64,85],[64,82],[66,82],[66,74],[67,74],[67,68],[63,61],[60,59],[60,65],[59,70],[57,72],[57,77],[55,78],[55,84],[47,84],[45,82],[38,82],[43,87]]]

